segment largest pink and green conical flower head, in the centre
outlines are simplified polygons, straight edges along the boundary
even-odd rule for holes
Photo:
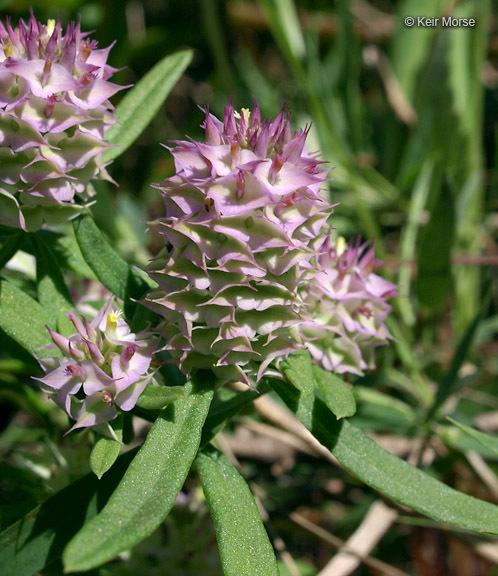
[[[237,114],[230,104],[223,122],[205,112],[206,142],[176,142],[177,173],[157,186],[166,215],[153,226],[167,255],[150,268],[159,289],[149,305],[184,372],[250,383],[297,345],[289,327],[316,274],[328,171],[284,109],[267,122],[257,105]]]

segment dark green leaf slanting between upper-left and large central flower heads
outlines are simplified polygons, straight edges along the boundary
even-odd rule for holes
[[[74,222],[81,254],[98,280],[121,300],[141,298],[149,286],[144,277],[107,243],[89,214]]]

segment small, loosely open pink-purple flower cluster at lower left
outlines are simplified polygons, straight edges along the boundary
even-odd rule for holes
[[[158,341],[150,334],[133,334],[112,298],[91,322],[74,312],[68,318],[76,333],[66,338],[48,328],[63,358],[40,360],[47,374],[37,380],[76,420],[69,432],[91,426],[114,437],[109,421],[118,408],[131,410],[149,384]]]

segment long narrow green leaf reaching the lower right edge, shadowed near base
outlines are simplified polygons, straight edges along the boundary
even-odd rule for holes
[[[357,478],[395,502],[439,522],[498,534],[498,506],[467,496],[383,450],[348,420],[332,418],[325,404],[309,399],[279,380],[272,387],[317,440]]]

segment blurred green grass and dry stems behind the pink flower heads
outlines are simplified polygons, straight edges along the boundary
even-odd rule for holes
[[[119,188],[99,186],[101,229],[129,262],[157,251],[146,221],[161,213],[150,187],[173,172],[159,143],[201,138],[209,105],[220,116],[259,101],[282,103],[295,127],[312,122],[309,148],[334,166],[331,219],[346,238],[375,237],[382,273],[399,285],[378,370],[352,379],[356,425],[446,484],[498,501],[496,447],[446,419],[498,430],[498,33],[490,0],[0,0],[14,22],[81,14],[101,47],[116,40],[116,82],[137,82],[164,55],[194,58],[146,132],[111,166]],[[403,25],[452,14],[473,28]],[[119,94],[118,94],[119,97]],[[118,98],[119,99],[119,98]],[[116,100],[117,102],[117,100]],[[109,218],[110,210],[116,215]],[[19,269],[22,269],[21,280]],[[29,256],[2,270],[29,289]],[[31,278],[34,281],[34,270]],[[88,285],[74,285],[83,295]],[[35,391],[38,368],[3,336],[0,350],[0,525],[88,471],[87,434]],[[282,574],[327,574],[344,541],[367,559],[330,574],[498,574],[498,547],[412,514],[323,457],[284,417],[240,415],[219,442],[265,511]],[[375,504],[375,506],[373,506]],[[371,524],[368,524],[370,522]],[[363,532],[367,536],[362,536]],[[375,535],[374,538],[372,535]],[[365,549],[361,546],[366,545]],[[370,556],[372,555],[372,557]],[[337,560],[336,560],[337,561]],[[345,562],[345,561],[344,561]],[[380,562],[380,563],[379,563]],[[331,570],[332,568],[328,568]],[[58,563],[45,576],[60,574]],[[195,478],[164,526],[92,574],[219,575],[212,528]]]

